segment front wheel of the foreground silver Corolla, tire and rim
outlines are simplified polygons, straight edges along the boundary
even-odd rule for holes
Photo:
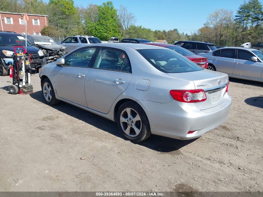
[[[51,106],[59,103],[59,100],[56,99],[52,83],[48,78],[43,80],[41,84],[41,88],[42,88],[42,96],[46,104]]]

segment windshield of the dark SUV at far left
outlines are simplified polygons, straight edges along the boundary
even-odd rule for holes
[[[26,46],[26,40],[21,35],[0,35],[0,45],[1,46]],[[27,46],[31,46],[29,42],[27,42]]]

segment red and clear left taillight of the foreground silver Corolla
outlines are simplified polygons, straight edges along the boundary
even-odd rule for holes
[[[185,103],[196,103],[206,100],[204,90],[170,90],[170,94],[176,101]]]

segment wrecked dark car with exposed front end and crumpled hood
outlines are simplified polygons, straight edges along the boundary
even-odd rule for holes
[[[58,45],[52,38],[44,35],[23,35],[27,41],[41,49],[45,55],[47,63],[54,62],[65,55],[64,46]]]

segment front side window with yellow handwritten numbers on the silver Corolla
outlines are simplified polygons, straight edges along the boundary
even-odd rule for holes
[[[65,58],[64,66],[89,67],[96,48],[85,48],[74,51]]]

